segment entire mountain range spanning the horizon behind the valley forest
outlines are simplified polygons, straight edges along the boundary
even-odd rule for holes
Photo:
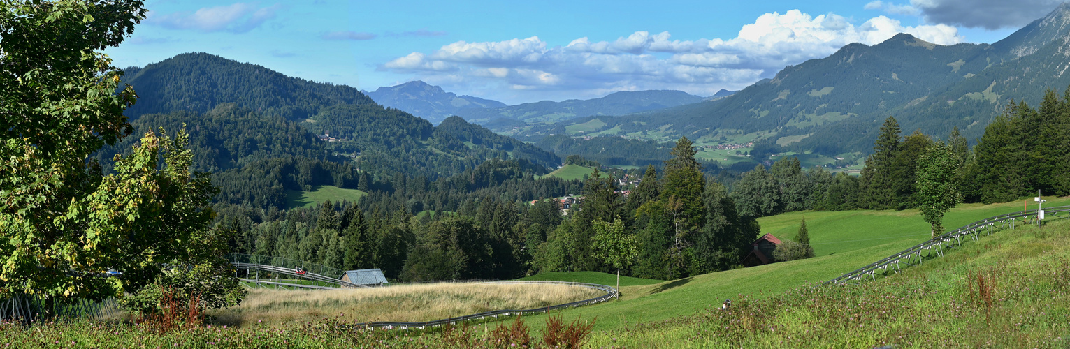
[[[872,148],[875,132],[888,116],[896,117],[906,133],[920,130],[944,138],[957,127],[973,140],[1011,100],[1037,106],[1045,90],[1070,85],[1067,57],[1070,5],[1064,4],[991,45],[942,46],[898,34],[872,46],[844,46],[742,91],[722,91],[708,98],[678,91],[640,91],[505,106],[419,81],[381,88],[369,97],[351,86],[287,77],[207,53],[131,67],[123,81],[140,96],[126,112],[131,120],[177,111],[198,117],[233,105],[239,109],[231,110],[279,117],[289,123],[286,127],[330,133],[335,141],[330,152],[353,157],[377,175],[435,178],[489,158],[525,159],[545,169],[560,163],[559,156],[582,149],[597,150],[592,155],[613,162],[639,164],[609,148],[645,149],[644,162],[656,161],[652,152],[681,136],[704,146],[762,141],[763,146],[796,153],[857,159]],[[414,115],[407,108],[435,116]],[[450,114],[460,117],[446,117]],[[559,137],[536,143],[542,148],[521,142],[554,134]],[[655,142],[572,143],[561,134]]]

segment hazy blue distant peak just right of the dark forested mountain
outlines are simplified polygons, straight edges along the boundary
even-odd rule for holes
[[[457,96],[419,80],[379,88],[373,92],[367,92],[367,95],[383,107],[399,109],[435,124],[465,109],[505,107],[505,104],[498,100]]]

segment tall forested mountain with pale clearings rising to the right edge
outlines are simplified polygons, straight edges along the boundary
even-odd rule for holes
[[[1068,4],[992,45],[941,46],[898,34],[785,67],[774,79],[717,101],[598,117],[599,127],[574,128],[570,136],[642,138],[658,130],[658,137],[716,138],[773,131],[775,140],[801,138],[790,149],[836,155],[868,153],[881,121],[896,116],[903,129],[946,134],[958,127],[973,141],[1010,100],[1039,102],[1044,90],[1070,84],[1068,38]],[[529,133],[559,133],[581,122]]]

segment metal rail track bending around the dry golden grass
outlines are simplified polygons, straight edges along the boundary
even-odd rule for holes
[[[484,312],[472,315],[464,315],[458,317],[452,317],[440,320],[423,321],[423,322],[400,322],[400,321],[377,321],[377,322],[364,322],[357,323],[356,327],[369,327],[369,328],[383,328],[383,329],[400,329],[409,330],[413,329],[425,329],[427,327],[437,327],[442,324],[456,324],[459,321],[467,320],[479,320],[485,318],[498,318],[499,316],[523,316],[538,313],[546,313],[549,311],[566,308],[566,307],[578,307],[582,305],[590,305],[599,302],[605,302],[616,296],[616,288],[606,285],[598,284],[586,284],[586,283],[568,283],[568,282],[555,282],[555,281],[498,281],[498,282],[486,282],[480,284],[550,284],[550,285],[567,285],[577,287],[586,287],[592,289],[597,289],[605,291],[606,295],[601,295],[592,299],[585,299],[582,301],[576,301],[565,304],[550,305],[533,310],[503,310],[503,311],[492,311]]]

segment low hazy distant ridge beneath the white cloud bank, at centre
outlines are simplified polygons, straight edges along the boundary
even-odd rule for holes
[[[624,115],[701,101],[682,91],[621,91],[594,99],[544,100],[494,109],[458,110],[470,122],[486,124],[495,118],[525,123],[554,123],[591,115]],[[495,129],[496,130],[496,129]]]

